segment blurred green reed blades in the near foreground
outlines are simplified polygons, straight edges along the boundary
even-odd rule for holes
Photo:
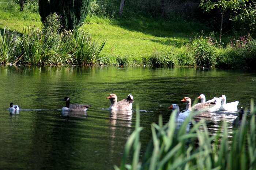
[[[231,141],[226,122],[219,127],[216,135],[211,136],[204,120],[197,123],[192,120],[193,125],[190,127],[192,117],[197,114],[195,112],[191,112],[178,129],[175,122],[176,112],[172,112],[165,125],[160,115],[159,124],[151,124],[152,140],[148,142],[146,152],[141,153],[139,135],[142,127],[137,109],[135,130],[125,144],[120,167],[114,168],[253,170],[256,168],[255,113],[252,102],[249,124],[246,123],[244,114],[240,127],[233,130]],[[127,163],[130,152],[132,160]]]

